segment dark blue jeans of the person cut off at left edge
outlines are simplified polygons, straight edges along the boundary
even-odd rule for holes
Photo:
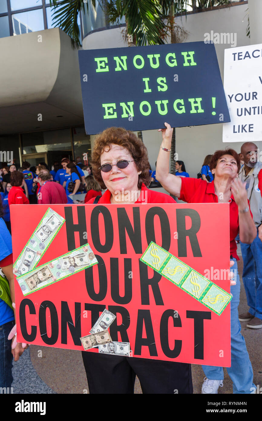
[[[13,355],[11,354],[11,341],[8,335],[15,324],[14,321],[0,326],[0,387],[11,387],[13,376]]]

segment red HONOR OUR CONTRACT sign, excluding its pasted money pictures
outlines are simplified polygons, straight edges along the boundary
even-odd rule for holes
[[[153,241],[230,292],[228,204],[51,208],[66,222],[37,266],[87,242],[98,264],[26,297],[15,281],[18,341],[83,350],[106,308],[112,341],[130,342],[133,357],[230,366],[230,305],[219,316],[140,261]],[[14,261],[47,209],[11,206]]]

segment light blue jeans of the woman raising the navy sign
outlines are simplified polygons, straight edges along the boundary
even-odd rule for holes
[[[241,325],[238,320],[238,304],[240,295],[240,280],[238,275],[238,265],[236,258],[231,272],[236,270],[236,285],[230,287],[233,298],[230,302],[231,317],[231,367],[227,368],[228,375],[233,381],[233,393],[249,394],[253,384],[253,370],[249,360],[249,354],[246,349],[245,339],[241,335]],[[223,367],[213,367],[211,365],[202,365],[204,373],[210,380],[223,380]]]

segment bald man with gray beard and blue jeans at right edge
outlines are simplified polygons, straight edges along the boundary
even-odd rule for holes
[[[257,227],[257,237],[251,244],[240,242],[243,257],[243,283],[246,290],[249,311],[239,315],[241,322],[248,322],[251,329],[262,328],[262,242],[258,227],[262,224],[262,197],[258,188],[258,173],[262,169],[259,162],[257,145],[246,142],[241,146],[244,165],[239,171],[239,178],[246,183],[247,197],[253,221]]]

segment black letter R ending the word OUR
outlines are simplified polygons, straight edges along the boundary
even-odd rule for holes
[[[161,280],[161,274],[158,272],[153,272],[153,278],[148,278],[148,266],[139,260],[139,274],[140,274],[140,290],[141,290],[141,304],[143,306],[148,306],[149,301],[149,285],[151,285],[153,296],[157,306],[163,306],[163,298],[161,296],[159,281]]]

